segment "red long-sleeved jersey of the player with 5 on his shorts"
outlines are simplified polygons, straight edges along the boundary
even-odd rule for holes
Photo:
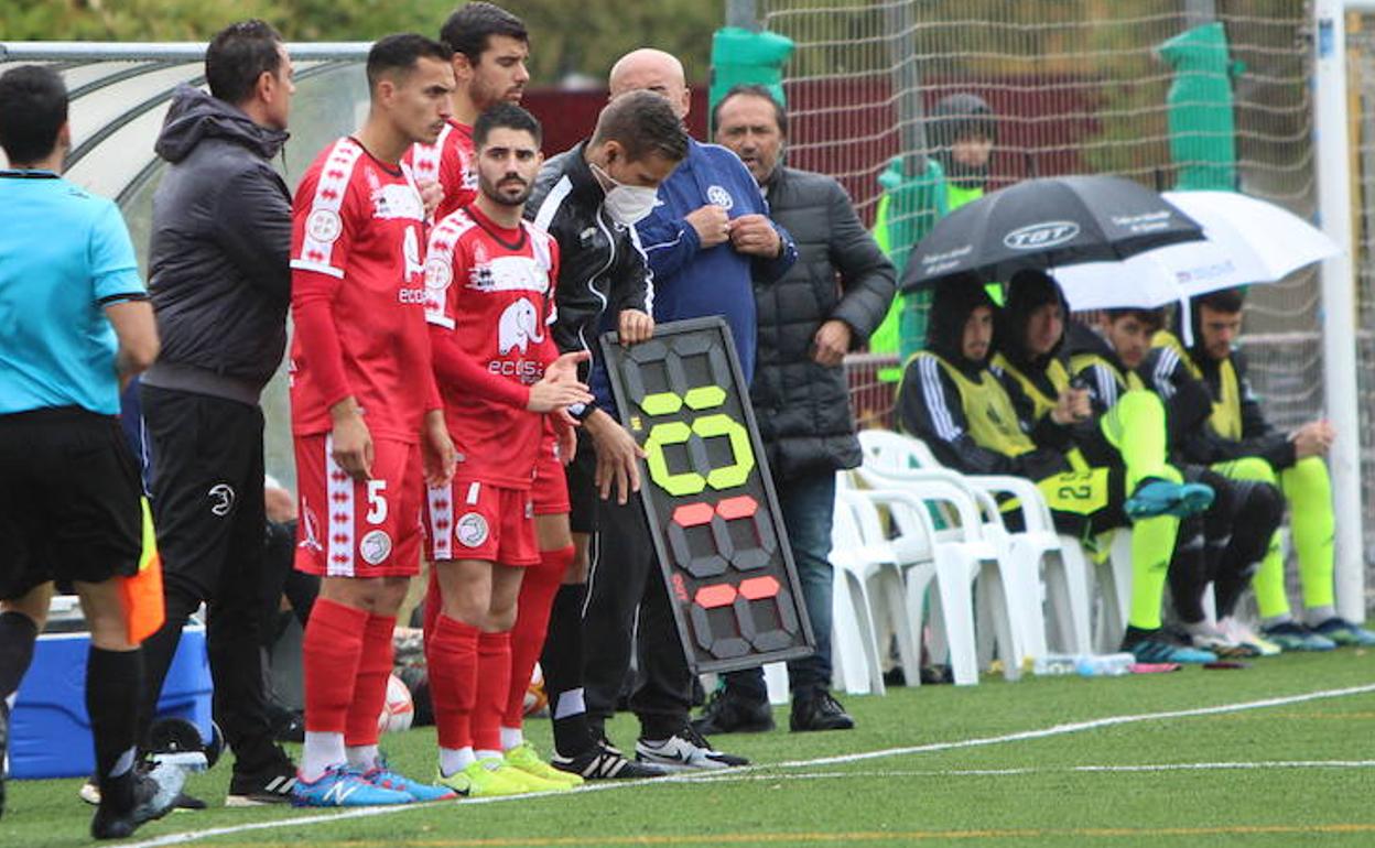
[[[333,427],[330,404],[352,394],[375,437],[419,440],[429,400],[425,212],[410,168],[355,139],[327,147],[301,177],[292,210],[292,429]],[[329,309],[333,339],[305,330],[302,309]],[[342,359],[342,382],[337,363]]]

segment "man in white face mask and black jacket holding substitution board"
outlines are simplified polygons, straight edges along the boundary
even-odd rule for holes
[[[653,333],[652,274],[634,224],[637,216],[653,209],[659,184],[686,153],[688,132],[668,102],[637,92],[608,104],[590,140],[540,169],[525,214],[558,242],[558,320],[553,333],[561,353],[588,350],[600,356],[597,335],[609,328],[627,344]],[[582,679],[587,548],[597,529],[597,496],[606,498],[615,489],[626,502],[638,491],[638,456],[644,454],[604,410],[588,404],[573,412],[583,421],[578,454],[568,466],[576,554],[554,595],[540,661],[554,719],[551,763],[588,779],[654,777],[663,771],[626,759],[593,734]]]

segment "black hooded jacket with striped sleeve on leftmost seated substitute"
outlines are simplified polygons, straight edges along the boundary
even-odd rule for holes
[[[936,287],[927,323],[927,352],[912,357],[898,390],[901,429],[925,441],[942,465],[969,474],[1013,474],[1042,480],[1070,470],[1063,452],[1070,447],[1068,430],[1052,422],[1050,416],[1034,426],[1019,416],[1016,426],[1037,447],[1016,456],[982,445],[969,433],[967,399],[938,357],[971,382],[978,383],[987,377],[1006,392],[989,370],[987,359],[969,360],[962,355],[964,326],[978,306],[993,306],[978,282],[952,280]],[[1013,408],[1022,403],[1011,392],[1008,399]]]

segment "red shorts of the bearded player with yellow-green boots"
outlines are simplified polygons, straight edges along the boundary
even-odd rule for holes
[[[535,510],[529,492],[521,489],[455,477],[447,487],[429,489],[425,529],[425,554],[430,562],[539,564]]]

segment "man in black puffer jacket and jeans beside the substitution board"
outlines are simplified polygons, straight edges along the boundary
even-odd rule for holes
[[[842,363],[883,320],[895,275],[837,181],[780,162],[788,115],[767,88],[730,89],[712,125],[798,245],[799,261],[782,279],[755,279],[759,335],[749,394],[817,636],[813,656],[788,664],[791,727],[848,730],[854,722],[829,693],[830,521],[836,470],[858,466],[862,456]],[[763,673],[723,678],[698,731],[773,727]]]

